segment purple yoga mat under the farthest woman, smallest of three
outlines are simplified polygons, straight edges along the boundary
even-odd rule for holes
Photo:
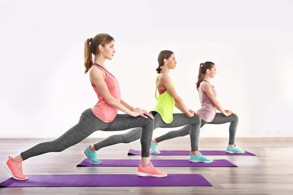
[[[154,154],[152,152],[149,153],[150,156],[189,156],[190,151],[188,150],[161,150],[160,154]],[[206,156],[255,156],[250,152],[245,151],[243,154],[231,154],[227,153],[223,150],[202,150],[200,151],[202,155]],[[128,150],[128,156],[134,155],[134,156],[141,156],[140,150]]]

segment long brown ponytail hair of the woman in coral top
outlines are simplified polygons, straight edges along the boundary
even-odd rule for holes
[[[114,41],[113,37],[108,34],[101,33],[94,38],[86,39],[84,42],[84,74],[88,72],[93,65],[92,54],[96,55],[99,51],[99,45],[105,47],[111,41]]]

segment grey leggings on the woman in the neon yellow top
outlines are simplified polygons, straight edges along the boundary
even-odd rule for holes
[[[173,114],[173,121],[167,124],[163,121],[159,113],[152,112],[152,114],[155,117],[154,129],[158,127],[173,128],[173,127],[181,127],[181,126],[187,125],[185,128],[186,128],[186,131],[188,131],[188,134],[190,136],[191,151],[198,151],[198,139],[199,139],[199,132],[200,132],[200,124],[201,124],[200,116],[197,115],[197,116],[188,118],[186,117],[184,113]],[[103,147],[115,145],[118,143],[130,143],[132,141],[138,140],[141,137],[141,133],[142,133],[142,128],[134,128],[125,134],[110,136],[96,143],[95,146],[97,150],[99,150]],[[147,141],[151,142],[151,139]]]

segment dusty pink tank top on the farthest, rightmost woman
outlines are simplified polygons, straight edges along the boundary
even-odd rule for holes
[[[202,91],[202,85],[204,82],[209,83],[208,81],[203,80],[200,84],[199,84],[199,88],[198,88],[198,92],[199,92],[199,99],[200,99],[200,103],[201,103],[201,108],[196,112],[199,116],[201,116],[201,118],[206,121],[206,122],[211,122],[214,117],[216,116],[216,107],[213,105],[212,101],[210,100],[210,98],[208,97],[207,94],[205,94]],[[215,97],[217,97],[217,92],[215,90],[215,88],[209,83],[212,92],[214,93]]]

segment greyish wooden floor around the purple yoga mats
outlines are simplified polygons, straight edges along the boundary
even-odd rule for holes
[[[201,150],[225,150],[227,141],[200,140]],[[8,156],[19,154],[42,141],[0,140],[0,181],[9,178],[3,168]],[[84,159],[83,150],[94,141],[83,141],[62,153],[50,153],[26,160],[25,174],[135,174],[136,167],[76,167]],[[168,174],[201,174],[212,187],[49,187],[0,188],[0,195],[293,195],[293,142],[237,141],[237,146],[256,156],[209,156],[228,159],[238,167],[159,167]],[[98,157],[139,159],[127,156],[128,149],[140,149],[140,142],[103,148]],[[189,138],[160,143],[161,150],[188,150]],[[188,156],[151,156],[152,159],[187,159]]]

